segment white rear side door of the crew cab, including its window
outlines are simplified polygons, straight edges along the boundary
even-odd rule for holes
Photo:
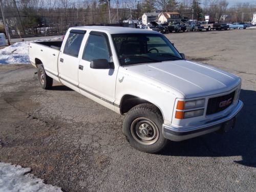
[[[58,58],[60,81],[68,87],[78,89],[78,66],[81,43],[86,31],[71,30],[66,39],[65,46],[61,47]],[[82,54],[82,52],[80,53]]]

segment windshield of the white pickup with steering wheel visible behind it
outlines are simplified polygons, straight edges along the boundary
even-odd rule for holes
[[[112,37],[121,66],[182,59],[162,34],[113,34]]]

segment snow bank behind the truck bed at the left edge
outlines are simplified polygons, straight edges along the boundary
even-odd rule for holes
[[[34,41],[57,41],[57,40],[61,40],[61,37],[55,37],[52,39],[38,39]],[[1,49],[0,64],[30,64],[29,42],[34,42],[34,41],[16,42],[11,46]]]

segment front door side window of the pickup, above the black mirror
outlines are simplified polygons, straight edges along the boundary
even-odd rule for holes
[[[106,38],[101,34],[90,34],[82,59],[88,61],[106,59],[110,62],[109,41]]]

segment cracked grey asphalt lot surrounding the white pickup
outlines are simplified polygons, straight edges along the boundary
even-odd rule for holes
[[[122,116],[57,82],[42,90],[30,65],[1,65],[0,161],[64,191],[255,191],[256,30],[166,36],[188,59],[242,78],[236,129],[142,153]]]

